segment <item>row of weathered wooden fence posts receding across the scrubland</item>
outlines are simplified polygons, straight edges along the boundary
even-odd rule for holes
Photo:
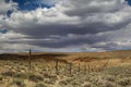
[[[107,61],[102,67],[100,67],[100,70],[103,70],[103,69],[105,69],[106,66],[107,66],[107,64],[108,64],[108,62],[109,61]],[[60,63],[60,61],[57,59],[56,61],[55,61],[55,72],[56,72],[56,74],[58,75],[58,74],[60,74],[60,67],[59,67],[59,63]],[[69,66],[69,74],[73,74],[73,71],[74,71],[74,67],[73,67],[73,65],[74,66],[76,66],[78,67],[78,70],[76,70],[76,73],[78,74],[80,74],[81,72],[84,72],[84,74],[87,74],[87,72],[90,73],[90,72],[95,72],[96,71],[96,67],[95,67],[95,65],[91,65],[90,63],[85,63],[84,64],[84,66],[82,66],[82,64],[81,63],[79,63],[78,65],[76,64],[73,64],[73,63],[64,63],[66,65],[68,65]],[[28,51],[28,77],[29,77],[29,73],[31,73],[31,67],[32,67],[32,50],[29,49],[29,51]],[[82,71],[83,70],[83,71]]]

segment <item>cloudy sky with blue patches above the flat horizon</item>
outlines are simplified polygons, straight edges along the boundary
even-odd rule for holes
[[[0,0],[0,53],[131,50],[131,0]]]

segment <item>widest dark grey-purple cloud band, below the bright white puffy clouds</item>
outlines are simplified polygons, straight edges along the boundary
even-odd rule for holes
[[[71,25],[71,24],[46,24],[46,25],[39,25],[32,22],[31,24],[24,24],[25,26],[19,27],[19,28],[10,28],[13,29],[16,33],[21,33],[24,35],[29,35],[31,37],[49,37],[51,35],[59,35],[59,36],[67,36],[69,34],[75,34],[75,35],[86,35],[86,34],[97,34],[97,33],[104,33],[104,32],[111,32],[121,29],[122,27],[126,27],[128,24],[130,24],[131,20],[128,18],[127,21],[120,21],[117,23],[110,23],[108,24],[105,21],[99,22],[85,22],[84,21],[78,25]],[[29,26],[28,26],[29,25]],[[10,26],[9,26],[10,27]]]

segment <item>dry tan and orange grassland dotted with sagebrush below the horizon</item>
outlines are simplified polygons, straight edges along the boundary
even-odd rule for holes
[[[0,54],[0,87],[131,87],[131,51]]]

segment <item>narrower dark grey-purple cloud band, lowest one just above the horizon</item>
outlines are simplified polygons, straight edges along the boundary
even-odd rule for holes
[[[97,37],[97,38],[96,38]],[[106,37],[98,36],[98,35],[85,35],[85,36],[79,36],[74,35],[73,37],[58,37],[55,38],[46,38],[46,39],[33,39],[32,41],[26,41],[31,45],[36,45],[40,47],[47,47],[47,48],[66,48],[69,46],[81,46],[81,45],[93,45],[98,41],[106,41]]]

